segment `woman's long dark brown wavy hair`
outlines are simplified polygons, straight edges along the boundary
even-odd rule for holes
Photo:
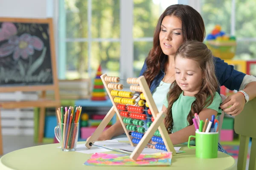
[[[161,63],[167,57],[160,47],[159,33],[161,23],[166,16],[175,16],[182,22],[184,40],[198,40],[203,42],[205,37],[204,21],[201,15],[191,6],[176,4],[169,6],[157,21],[154,31],[153,47],[146,58],[147,69],[143,73],[148,86],[151,86],[154,78],[159,74]]]

